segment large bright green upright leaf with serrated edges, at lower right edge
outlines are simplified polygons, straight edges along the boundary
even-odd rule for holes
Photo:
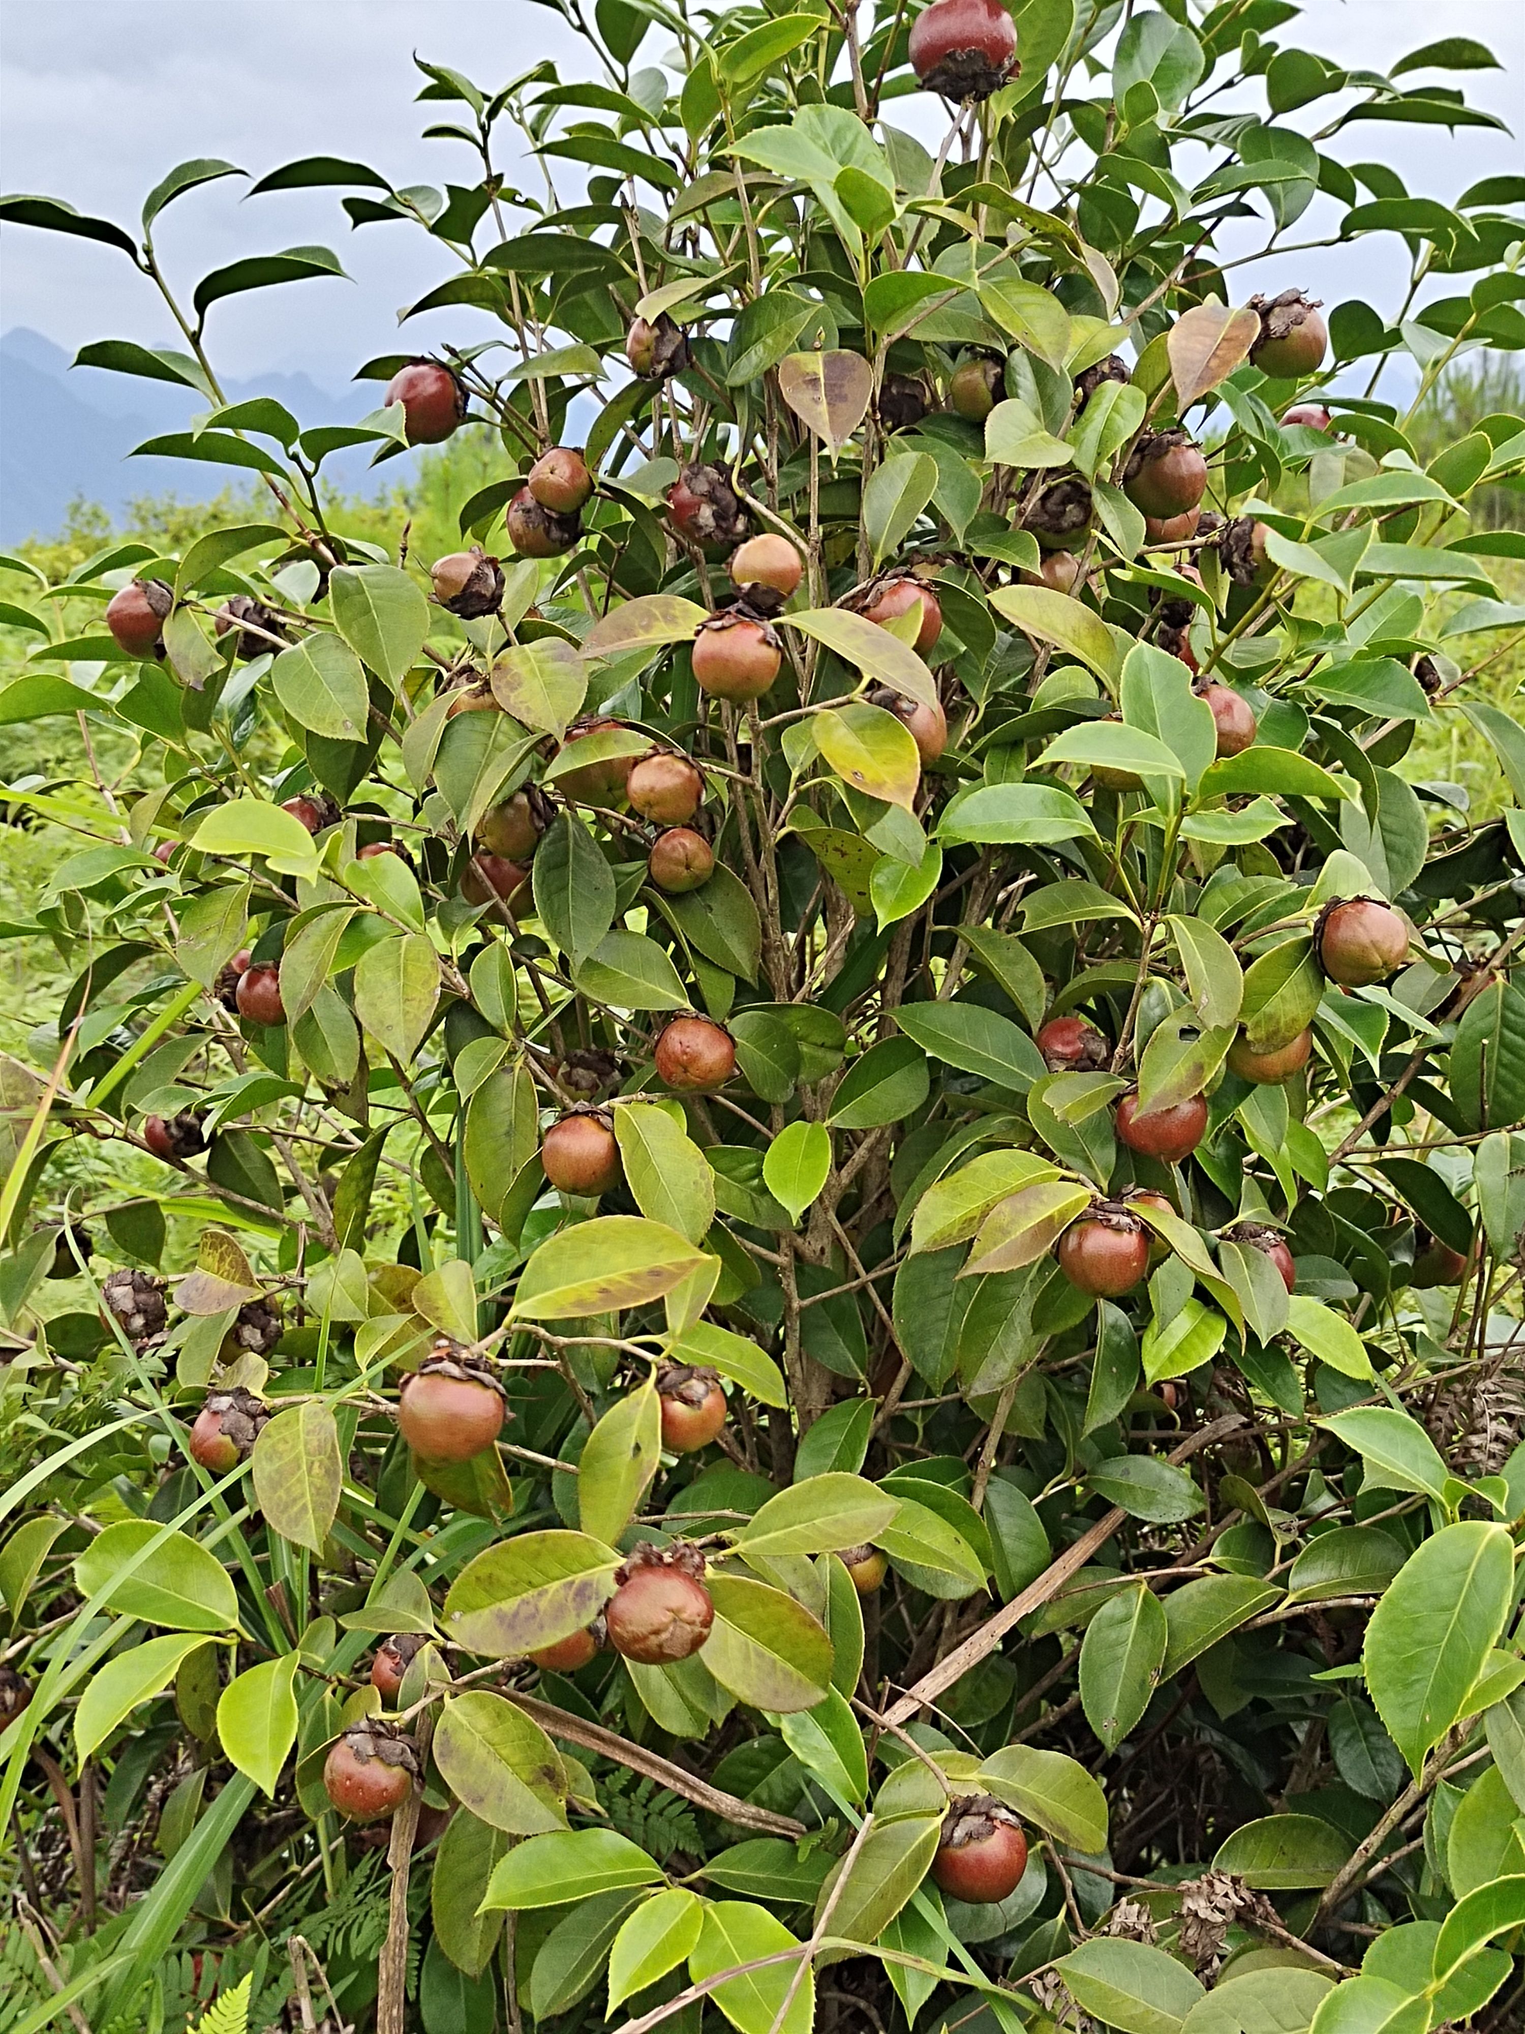
[[[1425,1753],[1468,1713],[1511,1603],[1509,1534],[1464,1519],[1425,1540],[1372,1611],[1366,1688],[1415,1778]]]

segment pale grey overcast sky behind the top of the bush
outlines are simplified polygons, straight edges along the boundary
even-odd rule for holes
[[[1525,161],[1519,0],[1474,0],[1466,10],[1434,0],[1316,0],[1279,39],[1342,65],[1381,69],[1462,31],[1486,41],[1503,69],[1419,73],[1405,83],[1460,83],[1470,102],[1501,114],[1513,136],[1362,122],[1326,144],[1344,163],[1393,163],[1413,193],[1452,199],[1478,177],[1519,171]],[[665,47],[667,37],[653,28],[640,61],[659,61]],[[413,49],[488,87],[539,57],[557,59],[563,77],[594,75],[561,18],[535,0],[458,8],[429,0],[0,0],[0,185],[63,197],[132,228],[142,193],[163,171],[199,155],[260,175],[299,155],[333,153],[368,161],[399,185],[472,181],[460,144],[419,138],[425,120],[445,110],[413,104],[421,83]],[[921,132],[935,116],[929,100],[895,106],[895,120]],[[1316,116],[1328,112],[1305,108],[1291,124],[1314,132]],[[504,167],[510,175],[521,169]],[[533,177],[525,169],[525,181]],[[242,189],[228,179],[165,216],[159,246],[187,297],[195,277],[220,262],[303,242],[336,248],[354,281],[301,283],[216,305],[209,340],[224,372],[305,368],[338,386],[372,354],[486,332],[482,313],[449,311],[399,336],[399,305],[451,273],[449,258],[415,228],[352,234],[338,191],[244,203]],[[1307,228],[1318,218],[1307,214],[1297,238],[1314,238]],[[0,248],[0,332],[30,325],[65,348],[94,338],[175,344],[150,285],[110,248],[10,226]],[[1385,252],[1314,252],[1267,273],[1238,271],[1236,295],[1297,283],[1330,303],[1350,295],[1391,303],[1401,264],[1397,240]]]

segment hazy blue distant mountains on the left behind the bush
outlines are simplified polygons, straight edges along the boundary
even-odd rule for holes
[[[303,425],[354,423],[376,407],[374,382],[340,393],[305,374],[262,374],[226,384],[228,401],[270,395]],[[69,354],[39,332],[18,325],[0,338],[0,543],[51,537],[63,529],[69,502],[92,500],[118,517],[138,494],[211,500],[242,486],[242,468],[199,460],[134,460],[146,437],[183,431],[207,405],[193,388],[173,382],[71,368]],[[325,474],[352,492],[392,484],[405,468],[388,462],[384,480],[368,472],[370,452],[338,454]]]

